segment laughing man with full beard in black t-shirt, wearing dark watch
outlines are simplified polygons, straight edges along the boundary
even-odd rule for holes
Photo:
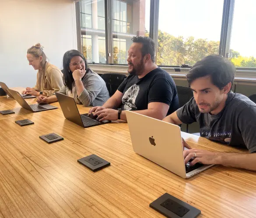
[[[155,64],[155,45],[149,37],[133,37],[128,51],[128,73],[115,94],[103,106],[93,107],[98,120],[126,120],[126,110],[163,119],[179,108],[172,77]],[[117,110],[116,110],[117,109]]]

